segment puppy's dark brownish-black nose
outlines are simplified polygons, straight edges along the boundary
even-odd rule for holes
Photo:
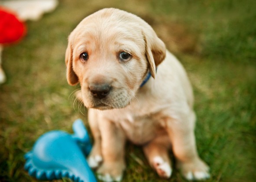
[[[90,84],[89,90],[93,97],[102,99],[106,97],[110,91],[111,86],[109,84]]]

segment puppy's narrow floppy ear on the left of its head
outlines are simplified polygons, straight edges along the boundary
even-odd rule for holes
[[[79,82],[77,75],[73,70],[73,49],[71,44],[71,36],[69,36],[69,43],[66,49],[65,55],[65,63],[66,63],[66,78],[70,85],[75,85]]]

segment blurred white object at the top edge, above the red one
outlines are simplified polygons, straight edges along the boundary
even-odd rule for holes
[[[58,0],[7,0],[1,3],[13,10],[20,20],[39,20],[43,13],[48,13],[58,5]]]

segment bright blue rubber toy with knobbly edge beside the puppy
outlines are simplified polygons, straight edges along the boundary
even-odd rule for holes
[[[75,120],[73,131],[72,135],[55,130],[40,136],[25,155],[29,175],[39,180],[67,177],[74,182],[96,182],[86,161],[92,145],[82,120]]]

